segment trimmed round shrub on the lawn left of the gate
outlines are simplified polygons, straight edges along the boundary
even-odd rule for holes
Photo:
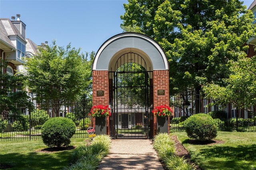
[[[54,117],[42,125],[42,140],[49,147],[68,146],[76,132],[75,123],[64,117]]]

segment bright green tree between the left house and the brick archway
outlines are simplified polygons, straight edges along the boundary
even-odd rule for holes
[[[51,103],[55,116],[64,100],[75,101],[90,88],[92,61],[80,50],[70,44],[59,47],[53,41],[52,46],[40,48],[26,60],[26,85],[36,94],[38,103]]]

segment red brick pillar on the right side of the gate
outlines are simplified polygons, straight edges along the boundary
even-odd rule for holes
[[[158,90],[165,90],[164,95],[157,95]],[[169,71],[154,70],[153,71],[153,101],[154,107],[160,105],[169,106]],[[152,113],[151,113],[152,114]],[[156,136],[156,116],[153,115],[153,135]],[[170,119],[168,119],[168,133],[170,133]]]

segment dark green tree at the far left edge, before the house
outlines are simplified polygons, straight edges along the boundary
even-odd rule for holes
[[[18,84],[23,81],[22,75],[9,75],[3,73],[6,69],[7,61],[1,59],[0,62],[0,125],[8,123],[8,120],[18,119],[22,115],[20,108],[32,110],[33,105],[29,101],[26,91],[16,91]],[[6,127],[5,127],[6,128]],[[3,130],[3,129],[2,129]]]

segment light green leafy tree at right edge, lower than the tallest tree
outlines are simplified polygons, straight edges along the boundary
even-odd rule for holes
[[[231,74],[223,79],[226,85],[207,84],[203,87],[206,97],[213,99],[212,104],[232,103],[237,109],[251,111],[250,106],[256,105],[256,56],[229,63]]]

